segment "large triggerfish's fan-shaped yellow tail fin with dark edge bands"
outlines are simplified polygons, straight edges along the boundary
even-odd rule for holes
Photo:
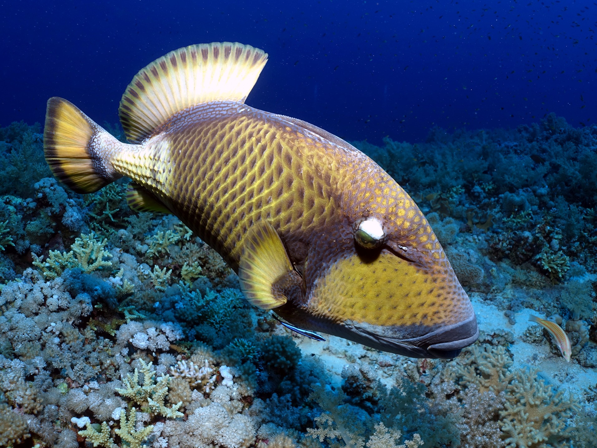
[[[125,146],[69,101],[48,100],[45,160],[54,176],[73,191],[93,193],[122,177],[110,157]]]

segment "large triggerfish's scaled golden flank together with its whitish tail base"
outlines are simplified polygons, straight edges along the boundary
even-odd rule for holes
[[[214,107],[189,114],[210,115]],[[153,191],[235,270],[242,238],[257,220],[268,220],[284,239],[337,219],[337,148],[240,103],[220,113],[210,120],[179,116],[113,165]]]

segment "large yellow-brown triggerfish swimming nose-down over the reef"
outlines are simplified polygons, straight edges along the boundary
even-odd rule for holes
[[[250,303],[303,335],[456,357],[479,330],[423,213],[349,143],[246,105],[266,62],[224,42],[150,63],[120,102],[129,143],[53,97],[45,158],[80,193],[130,177],[133,210],[179,217],[238,274]]]

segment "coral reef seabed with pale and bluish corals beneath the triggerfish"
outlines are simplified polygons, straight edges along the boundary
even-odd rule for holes
[[[355,143],[493,310],[456,360],[291,334],[179,220],[131,211],[127,179],[82,196],[47,177],[40,131],[0,128],[0,446],[595,446],[597,127]]]

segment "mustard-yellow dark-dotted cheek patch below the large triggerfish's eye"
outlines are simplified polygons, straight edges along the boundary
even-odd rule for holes
[[[389,253],[380,254],[370,264],[358,257],[341,260],[316,287],[321,302],[314,314],[381,326],[456,323],[469,312],[469,306],[461,306],[468,299],[460,285],[447,281],[451,268],[444,263],[443,269],[429,277],[405,261],[396,263]],[[373,296],[371,291],[376,291]]]

